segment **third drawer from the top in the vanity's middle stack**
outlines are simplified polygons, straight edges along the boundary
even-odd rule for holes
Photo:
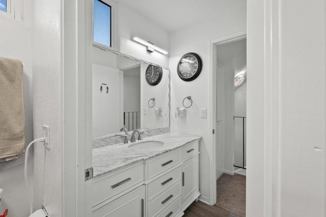
[[[181,195],[181,186],[178,182],[167,192],[161,194],[148,204],[148,216],[156,216],[162,209],[168,207],[175,198]]]

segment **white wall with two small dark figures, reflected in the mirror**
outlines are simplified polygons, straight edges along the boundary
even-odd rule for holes
[[[123,72],[93,64],[92,84],[93,138],[119,132],[123,126]]]

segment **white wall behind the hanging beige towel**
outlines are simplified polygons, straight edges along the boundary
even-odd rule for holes
[[[24,1],[23,21],[14,20],[0,15],[0,56],[20,59],[23,64],[23,91],[25,109],[25,144],[33,140],[32,122],[32,1]],[[32,153],[32,152],[31,152]],[[33,156],[31,154],[30,156]],[[24,155],[16,162],[23,162]],[[14,162],[10,162],[15,164]],[[29,178],[33,179],[33,160],[29,161]],[[4,163],[0,163],[0,169]],[[24,165],[21,164],[5,172],[0,172],[0,188],[4,189],[3,203],[0,213],[9,209],[8,216],[27,216],[29,213],[29,199],[24,183]],[[33,187],[33,184],[31,184]]]

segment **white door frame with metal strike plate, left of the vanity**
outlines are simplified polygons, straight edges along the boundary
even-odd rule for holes
[[[61,1],[62,216],[91,216],[93,1]]]

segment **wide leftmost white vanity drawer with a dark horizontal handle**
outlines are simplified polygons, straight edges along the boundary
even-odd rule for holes
[[[144,165],[132,167],[121,173],[93,182],[93,206],[144,181]]]

